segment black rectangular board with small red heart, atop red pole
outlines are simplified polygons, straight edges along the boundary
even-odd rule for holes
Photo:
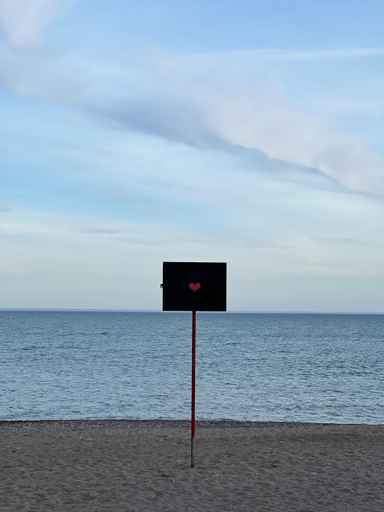
[[[163,311],[226,311],[227,264],[163,262]]]

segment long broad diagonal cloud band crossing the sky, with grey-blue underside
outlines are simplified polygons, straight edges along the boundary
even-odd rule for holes
[[[11,58],[3,73],[16,93],[74,106],[111,129],[202,150],[243,152],[254,172],[273,170],[275,177],[294,176],[316,187],[325,185],[318,183],[322,177],[330,180],[328,185],[384,191],[381,155],[372,153],[366,142],[335,132],[321,117],[293,108],[276,92],[229,87],[209,73],[202,79],[178,65],[165,74],[156,67],[140,73],[104,70],[102,80],[94,80],[98,63],[93,62],[94,68],[83,68],[76,82],[68,78],[73,65],[69,58],[39,59],[33,66]]]

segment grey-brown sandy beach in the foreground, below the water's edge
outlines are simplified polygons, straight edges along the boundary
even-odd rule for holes
[[[0,510],[382,512],[384,425],[0,422]]]

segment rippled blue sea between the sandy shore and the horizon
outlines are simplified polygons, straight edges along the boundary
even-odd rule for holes
[[[0,311],[0,419],[190,416],[190,313]],[[384,315],[197,313],[196,417],[384,423]]]

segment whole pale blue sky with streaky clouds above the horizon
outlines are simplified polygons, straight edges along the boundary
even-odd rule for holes
[[[384,312],[381,0],[0,0],[0,308]]]

